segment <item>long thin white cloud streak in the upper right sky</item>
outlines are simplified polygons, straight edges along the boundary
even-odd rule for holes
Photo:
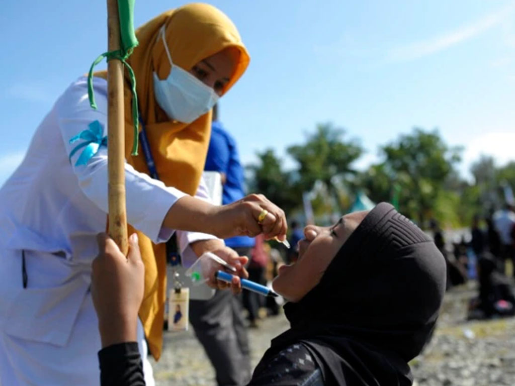
[[[466,40],[501,24],[511,17],[514,8],[515,3],[511,2],[508,6],[486,15],[483,19],[469,25],[462,26],[457,30],[445,33],[442,36],[393,48],[388,52],[387,59],[390,61],[400,62],[420,59],[425,56],[436,54],[436,52],[465,42]]]

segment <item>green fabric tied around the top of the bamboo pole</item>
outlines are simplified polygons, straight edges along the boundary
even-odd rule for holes
[[[138,46],[138,39],[134,33],[134,3],[135,0],[118,0],[118,19],[120,23],[120,45],[121,49],[116,51],[104,52],[95,59],[88,73],[88,97],[92,109],[97,109],[95,95],[93,93],[93,68],[104,58],[108,61],[117,59],[121,61],[129,73],[132,93],[132,121],[134,125],[134,142],[132,143],[132,155],[138,155],[138,94],[136,94],[136,77],[127,59],[132,54],[134,47]]]

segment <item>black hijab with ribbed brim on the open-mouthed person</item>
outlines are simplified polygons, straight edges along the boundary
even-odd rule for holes
[[[342,245],[320,283],[284,306],[291,328],[272,340],[263,360],[302,342],[326,385],[410,385],[407,362],[431,336],[445,276],[445,261],[431,238],[380,203]]]

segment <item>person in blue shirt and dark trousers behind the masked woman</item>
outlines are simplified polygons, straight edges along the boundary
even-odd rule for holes
[[[204,170],[221,174],[222,204],[245,196],[236,141],[218,119],[218,104],[213,108]],[[238,255],[250,257],[255,241],[237,236],[225,239],[225,243]],[[242,294],[230,291],[217,290],[212,299],[190,302],[190,322],[213,364],[218,386],[240,386],[250,379],[250,349],[242,311]]]

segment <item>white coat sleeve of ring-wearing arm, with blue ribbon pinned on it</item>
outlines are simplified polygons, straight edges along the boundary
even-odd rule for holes
[[[107,136],[107,82],[94,78],[97,110],[90,107],[85,78],[68,87],[56,103],[56,112],[67,155],[84,141],[71,144],[70,139],[97,120]],[[83,193],[104,212],[108,212],[107,147],[100,146],[85,165],[76,166],[82,153],[81,148],[73,154],[70,163]],[[162,182],[153,180],[147,174],[136,171],[125,164],[125,189],[127,200],[127,222],[143,232],[153,242],[164,242],[174,230],[162,229],[163,220],[174,203],[185,194]]]

